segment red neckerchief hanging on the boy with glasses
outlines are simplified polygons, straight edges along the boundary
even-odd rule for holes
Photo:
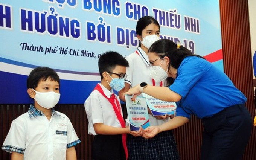
[[[119,101],[116,99],[114,93],[112,94],[112,96],[111,96],[110,98],[108,98],[108,97],[104,94],[104,92],[103,92],[103,90],[102,90],[102,88],[101,88],[101,86],[100,86],[99,84],[96,85],[96,87],[94,88],[94,90],[99,91],[99,93],[101,93],[102,96],[104,96],[105,98],[107,98],[107,100],[111,103],[111,105],[112,105],[112,107],[113,107],[113,110],[114,110],[115,113],[116,113],[116,117],[117,117],[117,119],[119,120],[119,122],[120,122],[122,128],[125,128],[125,127],[126,127],[126,126],[125,126],[125,121],[123,120],[123,116],[122,116],[122,114],[121,114],[121,106],[120,106],[120,104],[119,104]],[[116,103],[115,103],[115,101],[116,101]],[[117,106],[116,106],[116,104],[117,104]],[[127,158],[128,158],[128,150],[127,150],[127,146],[126,146],[126,134],[122,134],[122,142],[123,142],[123,148],[124,148],[124,150],[125,150],[125,156],[126,156],[126,160],[127,160]]]

